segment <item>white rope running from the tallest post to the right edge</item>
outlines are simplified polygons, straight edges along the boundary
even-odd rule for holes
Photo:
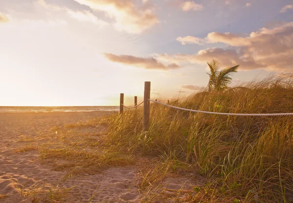
[[[293,113],[259,113],[259,114],[254,114],[254,113],[221,113],[221,112],[209,112],[209,111],[198,111],[198,110],[191,110],[191,109],[184,109],[180,107],[174,107],[168,104],[164,104],[161,102],[157,102],[151,99],[148,99],[149,101],[162,104],[167,107],[171,107],[174,109],[179,109],[179,110],[184,110],[184,111],[191,111],[191,112],[198,112],[198,113],[208,113],[208,114],[217,114],[217,115],[237,115],[237,116],[287,116],[287,115],[293,115]]]

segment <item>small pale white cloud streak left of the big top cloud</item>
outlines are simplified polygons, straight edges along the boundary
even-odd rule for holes
[[[107,22],[98,19],[95,15],[93,15],[89,11],[72,11],[72,10],[67,10],[67,14],[74,19],[77,19],[82,22],[91,22],[99,27],[104,27],[108,25]]]

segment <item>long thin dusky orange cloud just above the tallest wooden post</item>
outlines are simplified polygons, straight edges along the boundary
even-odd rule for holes
[[[144,58],[144,57],[136,57],[132,55],[113,55],[108,53],[104,53],[103,55],[112,62],[122,63],[125,65],[134,66],[137,68],[157,69],[157,70],[169,70],[169,69],[180,68],[180,66],[175,63],[171,63],[166,66],[153,57]]]

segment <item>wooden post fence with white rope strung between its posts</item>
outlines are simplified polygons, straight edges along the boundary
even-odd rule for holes
[[[292,116],[293,113],[222,113],[222,112],[211,112],[211,111],[198,111],[192,109],[185,109],[181,107],[175,107],[168,104],[164,104],[162,102],[158,102],[157,100],[150,99],[150,82],[145,82],[145,92],[144,92],[144,101],[140,104],[137,104],[137,96],[134,97],[134,106],[129,107],[124,105],[124,93],[120,94],[120,113],[123,113],[123,109],[133,109],[142,104],[144,104],[144,120],[143,120],[143,129],[146,130],[149,124],[149,116],[150,116],[150,102],[154,102],[160,105],[164,105],[173,109],[178,109],[182,111],[196,112],[196,113],[207,113],[214,115],[227,115],[227,116]],[[168,100],[169,103],[169,100]]]

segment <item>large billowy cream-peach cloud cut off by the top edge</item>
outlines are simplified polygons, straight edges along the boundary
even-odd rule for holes
[[[115,19],[114,27],[128,33],[142,33],[153,27],[159,20],[153,13],[153,5],[145,1],[137,7],[133,0],[75,0],[93,10],[104,11],[107,16]]]

